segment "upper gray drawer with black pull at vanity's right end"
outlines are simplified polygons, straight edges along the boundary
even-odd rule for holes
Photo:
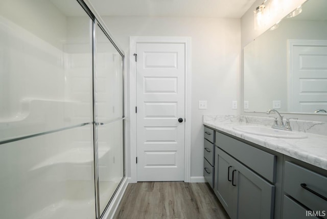
[[[327,177],[286,161],[284,191],[310,210],[327,212]]]

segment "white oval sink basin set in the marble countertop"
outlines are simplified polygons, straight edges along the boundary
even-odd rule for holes
[[[253,135],[260,135],[260,136],[269,136],[275,138],[308,138],[308,136],[305,133],[279,130],[279,129],[265,127],[265,126],[242,125],[242,126],[234,126],[233,128],[240,132],[253,134]]]

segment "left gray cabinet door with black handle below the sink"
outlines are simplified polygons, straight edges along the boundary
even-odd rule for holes
[[[233,202],[233,186],[231,185],[231,173],[233,170],[233,159],[227,156],[221,149],[216,147],[215,156],[215,193],[231,217]],[[229,173],[228,173],[229,172]],[[229,179],[228,179],[229,178]]]

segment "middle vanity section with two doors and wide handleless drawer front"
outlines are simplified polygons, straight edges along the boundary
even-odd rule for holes
[[[274,172],[274,155],[216,132],[214,191],[230,218],[273,218]]]

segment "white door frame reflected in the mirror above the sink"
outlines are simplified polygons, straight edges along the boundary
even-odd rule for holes
[[[327,46],[324,39],[289,39],[288,40],[288,109],[292,108],[293,80],[292,80],[292,60],[294,46]]]

